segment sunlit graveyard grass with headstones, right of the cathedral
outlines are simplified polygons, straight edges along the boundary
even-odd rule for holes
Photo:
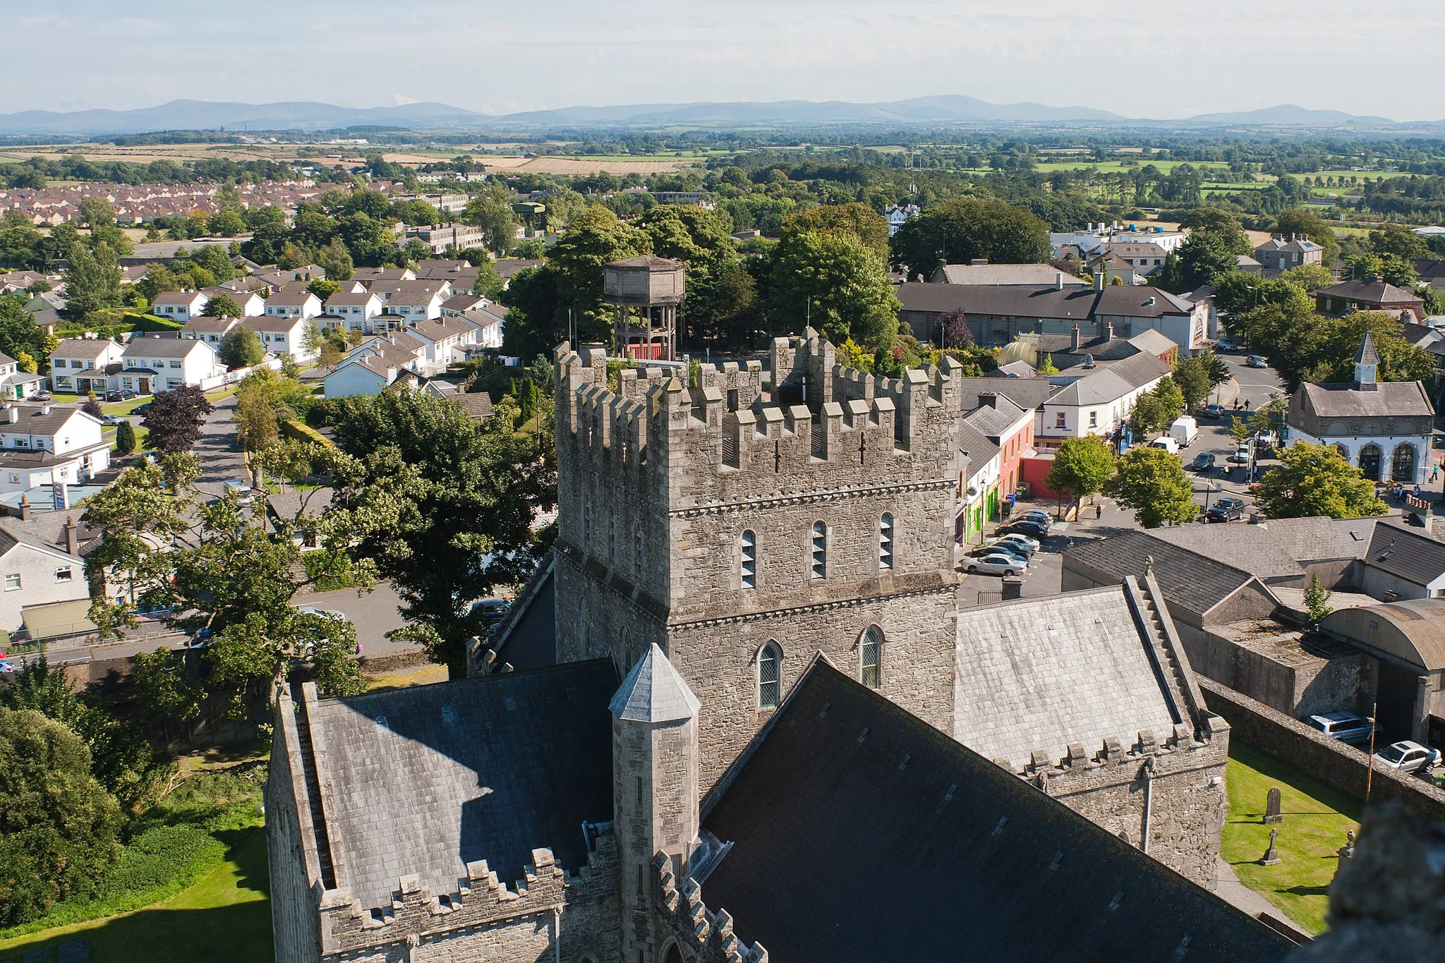
[[[1361,801],[1238,741],[1230,742],[1225,781],[1230,816],[1221,856],[1241,884],[1306,931],[1324,933],[1329,881],[1340,865],[1335,850],[1344,846],[1347,830],[1358,832]],[[1285,819],[1266,826],[1264,803],[1272,787],[1279,787],[1279,811]],[[1280,862],[1260,866],[1270,829],[1279,830],[1276,853]]]

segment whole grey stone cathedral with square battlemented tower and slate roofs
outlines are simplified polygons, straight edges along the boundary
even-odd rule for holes
[[[1228,726],[1153,576],[959,606],[958,374],[564,344],[473,674],[277,699],[276,959],[1280,959],[1205,889]]]

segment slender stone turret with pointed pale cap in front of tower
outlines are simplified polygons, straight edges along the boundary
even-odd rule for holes
[[[617,837],[623,956],[657,960],[652,912],[655,858],[675,878],[698,842],[698,697],[656,644],[623,680],[613,713],[613,823]]]

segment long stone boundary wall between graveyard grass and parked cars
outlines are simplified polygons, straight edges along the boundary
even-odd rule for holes
[[[1228,720],[1234,739],[1263,749],[1342,793],[1364,798],[1368,778],[1368,759],[1364,752],[1209,679],[1201,679],[1199,687],[1204,690],[1204,702],[1209,706],[1209,712]],[[1416,775],[1376,770],[1370,801],[1392,800],[1403,803],[1431,822],[1445,820],[1445,791]]]

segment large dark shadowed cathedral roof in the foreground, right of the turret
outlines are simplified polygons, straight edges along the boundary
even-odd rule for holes
[[[1290,943],[822,661],[704,816],[702,884],[790,963],[1263,963]]]

